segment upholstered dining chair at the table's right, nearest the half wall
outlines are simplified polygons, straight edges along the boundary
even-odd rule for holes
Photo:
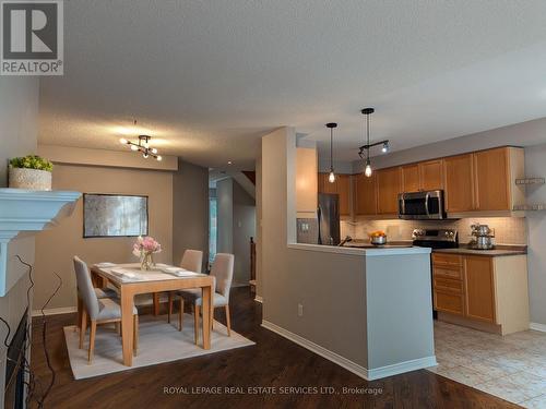
[[[218,253],[214,257],[214,263],[211,268],[211,276],[214,277],[214,294],[213,294],[213,309],[212,314],[214,316],[214,309],[224,308],[226,314],[226,326],[227,336],[232,336],[232,320],[229,316],[229,291],[232,289],[232,281],[234,278],[234,261],[235,256],[227,253]],[[183,306],[185,301],[190,302],[193,305],[193,326],[195,333],[195,345],[199,339],[199,316],[201,313],[202,305],[202,290],[201,289],[189,289],[176,291],[176,294],[180,297],[180,310],[178,313],[178,330],[182,330],[183,324]],[[211,329],[213,327],[213,320],[210,320]]]

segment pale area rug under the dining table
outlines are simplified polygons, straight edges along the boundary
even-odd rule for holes
[[[256,345],[256,342],[233,329],[232,336],[228,337],[227,328],[214,321],[214,329],[211,334],[211,349],[204,350],[201,348],[201,328],[200,345],[193,344],[193,315],[186,314],[183,324],[183,330],[180,333],[178,330],[177,314],[173,315],[170,324],[167,323],[166,315],[141,316],[139,354],[133,357],[132,366],[122,364],[121,337],[116,333],[112,324],[97,326],[95,354],[91,364],[87,364],[88,329],[85,336],[84,349],[79,349],[80,333],[74,330],[74,326],[66,326],[64,338],[74,378],[83,380],[133,368],[149,366]]]

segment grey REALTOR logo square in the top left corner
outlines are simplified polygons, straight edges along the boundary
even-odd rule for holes
[[[0,4],[0,74],[62,75],[62,0],[3,0]]]

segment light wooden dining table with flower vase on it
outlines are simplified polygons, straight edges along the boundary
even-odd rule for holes
[[[162,265],[162,269],[169,267]],[[170,266],[173,267],[173,266]],[[115,268],[115,272],[112,272]],[[128,274],[121,274],[120,269]],[[111,284],[118,289],[121,304],[121,338],[123,348],[123,364],[132,365],[133,359],[133,305],[134,296],[142,293],[158,293],[164,291],[176,291],[189,288],[202,289],[202,314],[203,314],[203,349],[211,348],[211,322],[213,314],[214,278],[201,273],[176,276],[164,273],[158,267],[147,272],[140,270],[140,264],[116,264],[115,266],[91,267],[93,282],[100,288]],[[191,273],[191,272],[190,272]],[[182,273],[183,274],[183,273]]]

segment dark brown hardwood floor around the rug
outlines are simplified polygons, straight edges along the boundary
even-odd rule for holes
[[[230,304],[233,328],[256,346],[82,381],[72,378],[62,334],[62,327],[71,325],[75,314],[49,316],[47,342],[57,380],[45,408],[518,407],[424,370],[366,382],[262,328],[261,304],[252,300],[248,288],[233,289]],[[225,323],[222,311],[216,320]],[[32,365],[40,383],[46,384],[50,374],[41,348],[41,322],[34,321]],[[179,388],[179,393],[166,393],[169,387]],[[222,393],[199,393],[198,388],[206,387],[219,387]],[[245,393],[226,394],[226,387]],[[276,394],[249,393],[248,387],[273,387]],[[336,393],[321,394],[319,389],[317,394],[298,394],[287,387],[333,387]],[[344,387],[356,390],[344,394]],[[365,388],[378,393],[364,394]]]

